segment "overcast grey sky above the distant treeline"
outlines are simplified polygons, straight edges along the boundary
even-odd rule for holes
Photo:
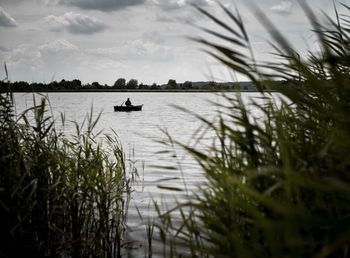
[[[316,38],[296,0],[249,0],[301,52]],[[269,35],[248,0],[221,0],[237,8],[258,59],[271,60]],[[308,0],[316,13],[334,16],[332,0]],[[349,4],[350,0],[342,3]],[[198,27],[218,30],[196,4],[224,21],[214,0],[0,0],[0,79],[6,62],[11,81],[80,79],[112,85],[118,78],[139,83],[245,80],[204,53],[189,37]],[[341,7],[339,7],[341,9]]]

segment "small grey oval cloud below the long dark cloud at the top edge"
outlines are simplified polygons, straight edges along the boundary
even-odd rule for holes
[[[102,21],[73,12],[62,16],[49,15],[44,18],[44,22],[50,26],[52,31],[66,30],[72,34],[93,34],[107,27]]]

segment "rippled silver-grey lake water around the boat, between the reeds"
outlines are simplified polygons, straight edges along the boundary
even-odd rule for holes
[[[90,112],[91,107],[95,113],[101,112],[97,130],[103,129],[105,133],[115,130],[123,144],[127,156],[132,157],[139,171],[139,180],[129,208],[130,234],[136,238],[140,246],[145,237],[136,206],[142,216],[154,215],[149,204],[153,200],[174,204],[174,198],[181,199],[183,193],[174,195],[173,191],[158,188],[158,185],[184,188],[184,180],[189,191],[204,180],[198,165],[181,148],[173,152],[158,141],[166,139],[162,130],[167,130],[174,139],[196,144],[198,128],[202,123],[192,115],[183,112],[175,106],[184,107],[190,111],[215,120],[217,107],[211,102],[222,102],[223,98],[213,93],[49,93],[52,113],[59,120],[60,113],[64,112],[66,121],[81,122]],[[113,106],[122,104],[130,98],[134,105],[143,104],[141,112],[114,112]],[[257,93],[244,93],[243,98],[258,98]],[[37,99],[40,96],[37,95]],[[32,106],[33,95],[15,94],[17,113]],[[58,123],[59,124],[59,123]],[[67,123],[66,133],[72,132],[74,126]],[[203,131],[203,130],[202,130]],[[213,135],[203,135],[204,144],[211,144]],[[203,142],[202,142],[203,143]],[[203,146],[198,146],[203,148]],[[177,170],[162,169],[159,165],[175,166]]]

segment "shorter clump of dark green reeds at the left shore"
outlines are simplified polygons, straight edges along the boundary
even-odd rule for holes
[[[34,103],[0,95],[0,256],[121,257],[135,168],[93,111],[66,136]]]

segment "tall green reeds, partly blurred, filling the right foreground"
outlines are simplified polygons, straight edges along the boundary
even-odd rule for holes
[[[155,207],[164,257],[350,256],[350,8],[320,20],[300,4],[321,50],[305,58],[255,9],[278,63],[255,60],[238,12],[221,5],[226,23],[196,7],[227,34],[206,30],[215,41],[194,40],[250,78],[265,98],[251,105],[264,116],[226,95],[215,121],[193,114],[215,134],[208,151],[170,141],[194,157],[206,183],[175,209]],[[281,78],[287,86],[274,89],[284,97],[272,97]]]

